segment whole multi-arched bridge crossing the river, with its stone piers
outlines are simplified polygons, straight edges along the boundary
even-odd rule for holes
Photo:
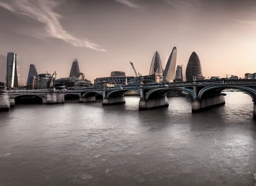
[[[225,104],[221,92],[225,89],[237,89],[247,93],[256,100],[256,80],[218,80],[218,81],[194,81],[168,84],[139,84],[139,85],[115,85],[93,86],[77,88],[75,90],[9,90],[9,100],[15,100],[22,96],[37,96],[45,104],[64,102],[67,95],[79,96],[80,102],[95,101],[96,97],[102,97],[103,105],[125,103],[124,93],[133,90],[140,94],[139,110],[169,106],[166,94],[171,91],[180,91],[188,94],[192,100],[192,112],[199,112]],[[1,93],[1,92],[0,92]],[[13,102],[13,101],[11,101]],[[253,117],[256,117],[256,106],[253,106]]]

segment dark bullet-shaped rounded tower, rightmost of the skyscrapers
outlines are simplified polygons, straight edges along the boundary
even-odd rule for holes
[[[193,81],[193,76],[203,76],[199,57],[195,52],[191,54],[186,68],[186,81]]]

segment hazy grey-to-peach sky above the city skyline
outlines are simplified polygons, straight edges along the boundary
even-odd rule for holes
[[[129,61],[148,75],[155,51],[164,68],[173,47],[183,73],[193,51],[205,77],[256,72],[254,0],[0,0],[0,25],[0,81],[7,52],[24,82],[29,64],[68,77],[73,58],[91,81],[129,76]]]

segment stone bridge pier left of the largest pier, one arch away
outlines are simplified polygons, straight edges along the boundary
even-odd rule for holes
[[[153,99],[141,99],[139,102],[139,110],[148,110],[148,109],[155,109],[161,107],[168,107],[169,102],[168,98],[160,97],[160,98],[153,98]]]

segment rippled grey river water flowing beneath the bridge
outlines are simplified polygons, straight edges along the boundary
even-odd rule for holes
[[[256,185],[252,98],[191,113],[185,97],[139,111],[101,102],[15,105],[0,113],[0,186]]]

